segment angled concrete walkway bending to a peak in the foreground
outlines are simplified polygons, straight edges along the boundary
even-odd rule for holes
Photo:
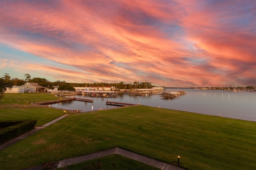
[[[165,162],[162,162],[160,160],[156,160],[153,158],[150,158],[148,156],[144,156],[142,154],[138,154],[135,152],[131,152],[129,150],[125,150],[119,147],[115,147],[112,149],[107,149],[107,150],[103,150],[103,151],[99,151],[99,152],[94,152],[94,153],[90,153],[90,154],[85,154],[82,156],[77,156],[74,158],[69,158],[69,159],[64,159],[64,160],[60,160],[58,162],[54,162],[54,164],[58,167],[58,168],[62,168],[68,165],[72,165],[72,164],[77,164],[80,162],[86,162],[88,160],[92,160],[92,159],[96,159],[96,158],[101,158],[103,156],[108,156],[111,154],[120,154],[122,156],[125,156],[127,158],[131,158],[140,162],[143,162],[145,164],[154,166],[156,168],[162,169],[162,170],[183,170],[182,168],[178,167],[178,166],[174,166],[171,164],[167,164]],[[40,170],[41,166],[36,166],[33,168],[29,168],[27,170]]]

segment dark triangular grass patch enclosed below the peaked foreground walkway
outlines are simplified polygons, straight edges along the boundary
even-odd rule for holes
[[[150,166],[118,154],[112,154],[100,159],[93,159],[87,162],[70,165],[67,166],[66,169],[60,168],[60,170],[82,170],[84,167],[87,169],[96,169],[93,167],[96,167],[95,165],[98,162],[102,163],[99,170],[160,170],[154,166]]]

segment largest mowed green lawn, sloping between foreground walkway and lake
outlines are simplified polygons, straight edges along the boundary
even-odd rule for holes
[[[24,169],[121,147],[186,169],[256,169],[256,123],[148,106],[72,114],[1,150]]]

